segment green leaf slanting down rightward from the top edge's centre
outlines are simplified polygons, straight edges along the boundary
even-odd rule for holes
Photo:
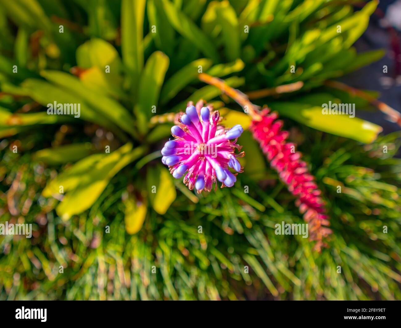
[[[184,13],[168,0],[162,0],[167,18],[174,29],[184,38],[190,40],[195,47],[210,57],[214,62],[219,61],[219,54],[211,40]]]

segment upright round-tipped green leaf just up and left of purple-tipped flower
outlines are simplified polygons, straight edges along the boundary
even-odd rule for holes
[[[160,88],[168,68],[168,57],[161,51],[155,51],[146,61],[139,85],[138,103],[134,113],[138,119],[138,130],[144,134],[148,131],[149,118],[153,106],[158,104]]]

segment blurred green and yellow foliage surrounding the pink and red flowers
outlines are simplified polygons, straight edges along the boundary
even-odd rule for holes
[[[376,6],[0,0],[1,222],[34,229],[0,236],[0,299],[401,299],[399,134],[377,139],[379,126],[318,109],[371,109],[324,82],[383,55],[352,48]],[[163,114],[187,101],[249,123],[200,67],[244,93],[302,81],[255,103],[288,117],[323,191],[334,232],[321,254],[274,234],[302,219],[249,133],[233,188],[194,194],[158,164]],[[47,115],[54,101],[81,116]]]

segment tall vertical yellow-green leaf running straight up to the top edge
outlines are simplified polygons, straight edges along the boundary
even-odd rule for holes
[[[144,12],[146,0],[122,0],[121,50],[123,63],[131,74],[130,85],[135,88],[144,65]]]

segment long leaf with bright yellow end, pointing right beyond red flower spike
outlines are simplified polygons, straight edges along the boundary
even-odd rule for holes
[[[325,115],[322,113],[322,106],[280,102],[271,103],[269,107],[277,110],[281,115],[290,117],[310,128],[350,138],[365,144],[375,141],[377,135],[383,130],[381,126],[358,117],[335,114]]]

